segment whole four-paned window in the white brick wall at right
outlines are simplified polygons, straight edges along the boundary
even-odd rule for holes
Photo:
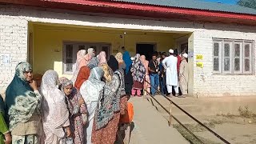
[[[213,68],[215,74],[252,74],[253,42],[214,39]]]

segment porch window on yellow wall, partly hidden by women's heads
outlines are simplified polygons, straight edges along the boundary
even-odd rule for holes
[[[63,43],[63,73],[73,74],[76,70],[77,53],[79,50],[94,48],[95,54],[102,50],[106,52],[106,57],[110,57],[109,43],[89,43],[89,42],[64,42]]]

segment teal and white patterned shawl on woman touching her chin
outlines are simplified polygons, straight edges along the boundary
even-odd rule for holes
[[[10,121],[10,131],[19,122],[27,122],[32,114],[40,114],[41,96],[26,82],[24,72],[32,70],[28,62],[20,62],[16,67],[14,79],[6,90],[6,112]]]

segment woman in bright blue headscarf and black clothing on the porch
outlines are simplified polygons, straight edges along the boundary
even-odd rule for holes
[[[125,70],[125,88],[126,88],[126,94],[130,94],[130,91],[133,86],[133,77],[130,72],[131,64],[133,63],[130,59],[130,54],[128,51],[125,51],[125,53],[122,55],[123,61],[126,63],[126,70]]]

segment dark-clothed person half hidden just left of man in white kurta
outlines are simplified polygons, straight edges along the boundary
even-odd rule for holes
[[[162,60],[164,60],[167,57],[166,52],[162,52],[161,54],[161,61],[159,64],[159,70],[160,70],[160,74],[159,74],[159,84],[160,84],[160,91],[162,94],[167,94],[167,90],[166,90],[166,71],[165,68],[162,66]]]

